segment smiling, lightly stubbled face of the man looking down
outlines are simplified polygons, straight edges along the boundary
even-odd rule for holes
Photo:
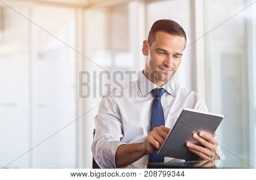
[[[145,76],[156,85],[162,86],[175,74],[181,63],[185,38],[158,31],[155,41],[149,46],[143,42],[143,54],[147,55]]]

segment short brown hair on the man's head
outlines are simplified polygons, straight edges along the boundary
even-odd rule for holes
[[[147,41],[150,46],[155,41],[155,34],[158,31],[164,31],[170,33],[171,35],[184,37],[185,41],[187,42],[186,33],[184,29],[180,26],[180,24],[176,23],[174,20],[161,19],[157,20],[152,25],[150,32],[148,33]]]

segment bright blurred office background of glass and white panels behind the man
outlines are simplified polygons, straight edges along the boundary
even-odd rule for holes
[[[175,20],[187,32],[175,79],[199,93],[210,112],[225,115],[217,140],[226,158],[255,166],[255,4],[1,0],[1,168],[92,168],[93,118],[107,89],[97,75],[142,70],[142,42],[158,19]],[[85,71],[87,88],[80,81]]]

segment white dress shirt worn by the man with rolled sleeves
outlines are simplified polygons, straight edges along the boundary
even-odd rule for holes
[[[154,96],[150,93],[157,86],[144,76],[138,80],[106,92],[94,118],[96,134],[92,143],[94,160],[100,168],[116,168],[115,152],[119,145],[142,143],[150,132],[151,109]],[[184,108],[208,112],[205,101],[195,92],[188,91],[173,81],[162,88],[166,92],[161,98],[166,127],[174,127]],[[225,156],[220,147],[217,154]],[[165,157],[164,162],[183,162],[176,158]],[[147,168],[148,155],[125,168]]]

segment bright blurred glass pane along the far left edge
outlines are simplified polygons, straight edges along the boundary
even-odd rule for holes
[[[28,15],[27,8],[15,7]],[[0,6],[0,166],[15,160],[31,147],[28,21]],[[17,33],[19,29],[19,33]],[[29,168],[30,153],[6,166]]]

